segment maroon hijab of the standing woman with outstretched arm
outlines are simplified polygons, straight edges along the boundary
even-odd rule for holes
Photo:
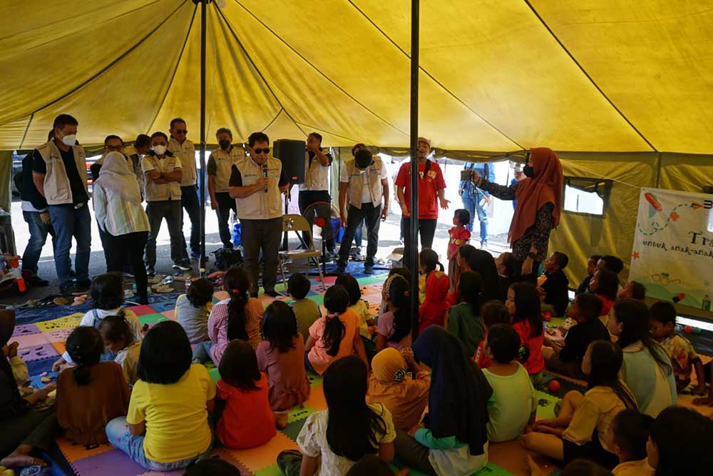
[[[510,225],[508,242],[515,243],[535,224],[538,211],[545,203],[552,203],[555,209],[553,228],[560,223],[562,213],[563,175],[560,159],[550,148],[536,147],[530,150],[530,161],[535,170],[533,178],[524,178],[515,192],[518,201],[515,215]]]

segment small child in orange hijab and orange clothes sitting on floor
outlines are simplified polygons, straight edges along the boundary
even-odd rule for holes
[[[413,377],[411,377],[411,375]],[[431,375],[414,360],[411,349],[385,348],[371,360],[368,401],[391,412],[394,427],[409,431],[421,421],[429,402]]]

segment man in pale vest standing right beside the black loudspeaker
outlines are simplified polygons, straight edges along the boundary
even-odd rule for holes
[[[304,211],[309,206],[317,202],[332,203],[329,196],[329,170],[332,166],[332,155],[329,151],[322,150],[322,136],[317,132],[309,133],[307,136],[307,150],[304,151],[304,183],[299,185],[299,213],[307,218],[309,229],[312,231],[314,220],[317,219],[317,208],[312,207],[307,215]],[[329,209],[330,207],[327,207]],[[327,253],[334,254],[334,230],[332,220],[327,217],[327,221],[322,226],[322,240],[327,245]],[[311,234],[311,233],[310,233]],[[304,233],[304,241],[309,245],[309,236]],[[329,260],[331,256],[325,256]]]

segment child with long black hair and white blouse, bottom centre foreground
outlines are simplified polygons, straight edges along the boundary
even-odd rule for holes
[[[386,462],[394,459],[391,412],[384,405],[366,403],[367,370],[354,355],[329,366],[323,385],[328,409],[307,417],[297,437],[302,452],[277,455],[283,475],[344,476],[364,455],[378,454]]]

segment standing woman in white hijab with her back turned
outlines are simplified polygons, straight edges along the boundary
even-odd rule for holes
[[[148,278],[143,264],[150,226],[141,206],[141,192],[123,153],[110,152],[104,157],[99,178],[93,186],[94,216],[106,233],[106,272],[121,273],[128,255],[136,280],[139,304],[148,304]],[[108,249],[106,249],[108,248]]]

